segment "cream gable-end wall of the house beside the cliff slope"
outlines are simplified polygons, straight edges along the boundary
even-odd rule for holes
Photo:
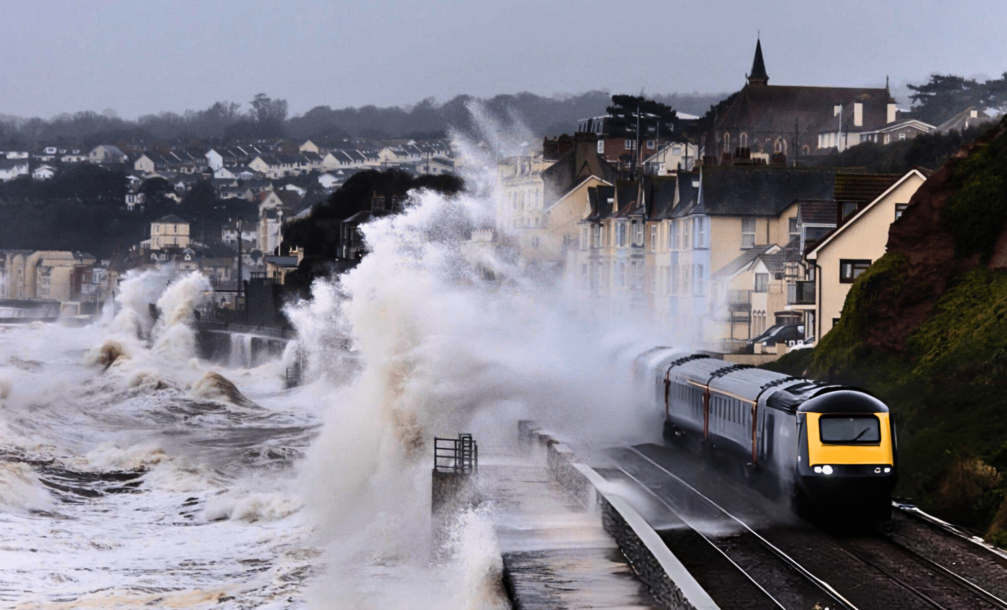
[[[884,255],[888,227],[925,180],[920,171],[910,170],[808,253],[817,279],[816,337],[821,338],[839,321],[850,286]]]

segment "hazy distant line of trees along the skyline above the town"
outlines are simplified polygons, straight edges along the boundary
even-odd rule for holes
[[[672,94],[652,96],[682,112],[701,113],[723,95]],[[157,140],[234,141],[248,138],[400,138],[443,137],[448,129],[471,132],[475,119],[473,103],[481,104],[492,120],[510,124],[518,119],[534,134],[569,133],[577,121],[605,113],[610,94],[591,91],[568,97],[544,97],[529,93],[499,95],[489,99],[456,96],[439,103],[428,98],[409,107],[364,106],[333,109],[316,106],[289,117],[286,100],[259,94],[246,109],[236,102],[217,102],[204,110],[162,112],[124,120],[114,112],[83,111],[62,114],[48,121],[0,116],[0,143],[6,147],[28,147],[36,142],[80,144],[85,148],[115,142]]]

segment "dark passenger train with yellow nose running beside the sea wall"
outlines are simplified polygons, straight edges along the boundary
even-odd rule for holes
[[[788,493],[799,513],[884,520],[898,476],[895,426],[868,392],[706,353],[655,347],[632,361],[666,440],[695,440],[719,461]]]

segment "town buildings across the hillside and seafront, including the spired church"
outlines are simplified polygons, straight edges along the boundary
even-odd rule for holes
[[[583,118],[496,167],[495,217],[466,252],[515,258],[563,284],[586,309],[687,330],[697,345],[764,361],[812,345],[838,321],[853,281],[885,252],[889,225],[933,168],[897,173],[833,166],[863,143],[963,132],[998,117],[973,106],[940,125],[900,109],[885,88],[769,84],[757,41],[742,89],[712,125],[687,113]],[[219,295],[210,315],[283,324],[287,278],[309,244],[287,234],[359,172],[462,175],[447,139],[260,139],[202,148],[183,142],[46,142],[8,150],[0,180],[53,180],[75,165],[125,175],[121,206],[179,203],[193,189],[247,213],[207,227],[178,213],[152,218],[146,239],[102,259],[81,251],[0,250],[0,298],[57,301],[93,316],[130,269],[200,271]],[[207,191],[208,192],[208,191]],[[358,226],[401,209],[407,193],[373,189],[341,218],[329,264],[366,254]],[[168,208],[170,209],[170,208]],[[313,265],[317,268],[318,262]]]

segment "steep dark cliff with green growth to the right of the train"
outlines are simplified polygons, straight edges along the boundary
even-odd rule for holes
[[[772,364],[862,387],[899,426],[896,493],[1007,543],[1007,121],[930,176],[814,350]]]

